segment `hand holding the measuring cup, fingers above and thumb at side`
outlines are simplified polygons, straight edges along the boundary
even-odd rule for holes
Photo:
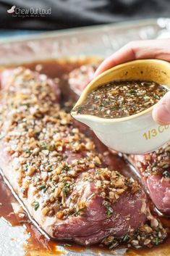
[[[95,76],[134,59],[163,59],[170,62],[170,38],[130,42],[106,58],[95,71]],[[170,124],[170,91],[153,108],[153,119],[161,125]]]

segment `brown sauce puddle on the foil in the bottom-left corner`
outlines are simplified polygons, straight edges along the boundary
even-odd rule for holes
[[[25,232],[30,234],[30,238],[27,239],[27,244],[25,245],[26,255],[30,256],[30,251],[48,252],[49,255],[52,253],[62,255],[62,252],[56,249],[56,242],[46,239],[46,237],[33,226],[22,208],[20,212],[14,213],[12,203],[17,203],[17,199],[14,198],[12,192],[0,175],[0,217],[6,220],[11,226],[25,226]],[[36,254],[36,256],[38,256],[38,254]]]

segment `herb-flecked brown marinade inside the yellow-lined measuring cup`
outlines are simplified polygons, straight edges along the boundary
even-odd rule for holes
[[[72,112],[103,118],[135,115],[156,104],[167,89],[145,80],[116,80],[90,91]]]

